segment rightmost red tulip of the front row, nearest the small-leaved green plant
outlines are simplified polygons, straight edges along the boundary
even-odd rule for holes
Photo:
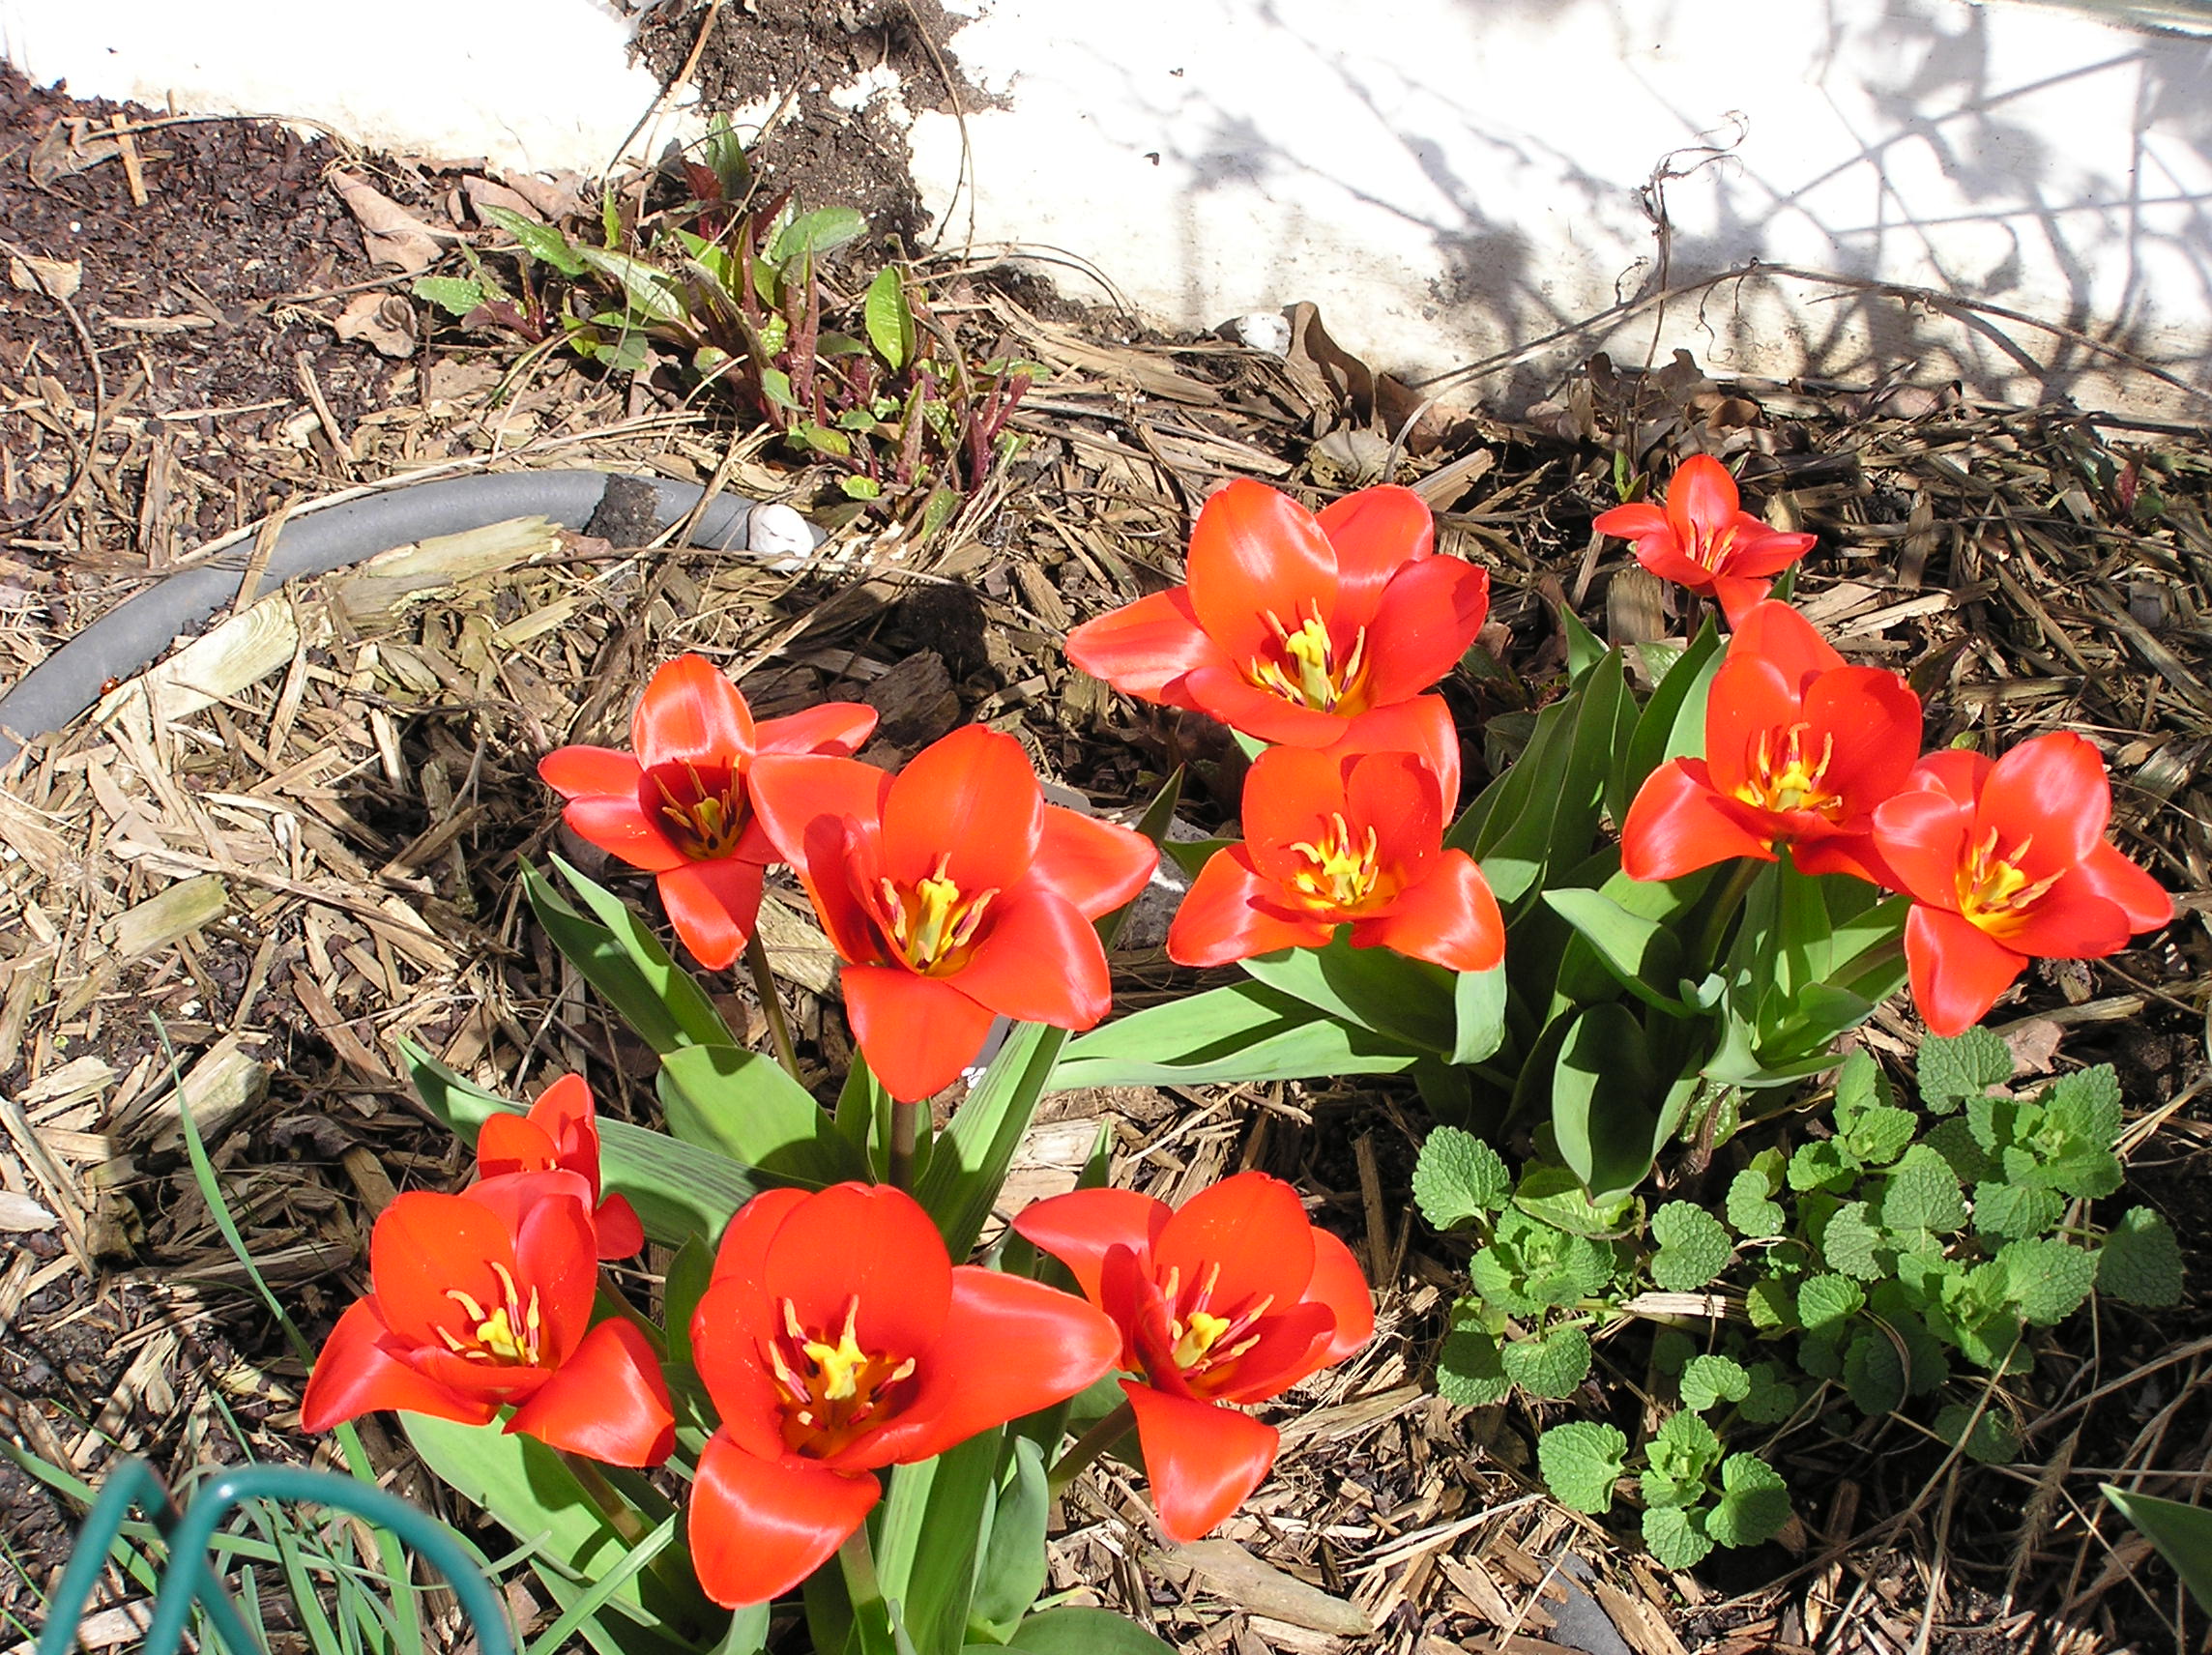
[[[1298,1195],[1239,1173],[1181,1210],[1130,1190],[1035,1201],[1013,1228],[1075,1272],[1121,1330],[1121,1392],[1152,1478],[1159,1527],[1197,1540],[1274,1465],[1259,1403],[1338,1363],[1374,1334],[1352,1250],[1316,1230]]]

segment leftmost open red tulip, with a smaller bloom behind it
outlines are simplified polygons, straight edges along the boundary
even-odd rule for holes
[[[659,1465],[675,1414],[653,1347],[599,1286],[591,1188],[575,1173],[409,1193],[369,1232],[369,1297],[323,1343],[299,1423],[327,1432],[380,1407],[489,1425],[608,1465]]]

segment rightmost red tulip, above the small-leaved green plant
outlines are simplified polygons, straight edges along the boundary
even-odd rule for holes
[[[2104,839],[2104,759],[2066,730],[2002,759],[1931,752],[1874,812],[1874,843],[1911,898],[1905,965],[1929,1029],[1975,1024],[2031,958],[2099,960],[2174,916]]]

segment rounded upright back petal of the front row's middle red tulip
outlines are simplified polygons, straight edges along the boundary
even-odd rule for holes
[[[920,1356],[938,1343],[953,1294],[945,1239],[905,1190],[836,1184],[776,1226],[761,1286],[799,1325],[836,1343],[854,1314],[860,1350]],[[858,1308],[854,1308],[858,1305]]]

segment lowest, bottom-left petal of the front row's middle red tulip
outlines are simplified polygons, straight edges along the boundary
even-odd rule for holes
[[[872,1476],[763,1460],[717,1432],[684,1518],[699,1584],[726,1609],[779,1597],[825,1564],[878,1498]]]

